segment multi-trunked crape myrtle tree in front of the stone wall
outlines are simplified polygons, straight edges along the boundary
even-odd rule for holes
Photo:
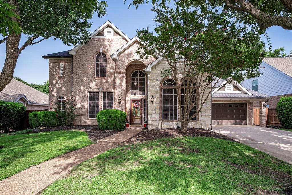
[[[137,31],[141,42],[137,54],[166,59],[169,68],[163,69],[161,76],[171,75],[177,83],[183,131],[201,112],[221,78],[240,82],[260,75],[265,45],[258,28],[239,24],[230,13],[208,4],[199,8],[176,1],[173,7],[154,4],[152,10],[157,13],[155,33],[148,28]]]

